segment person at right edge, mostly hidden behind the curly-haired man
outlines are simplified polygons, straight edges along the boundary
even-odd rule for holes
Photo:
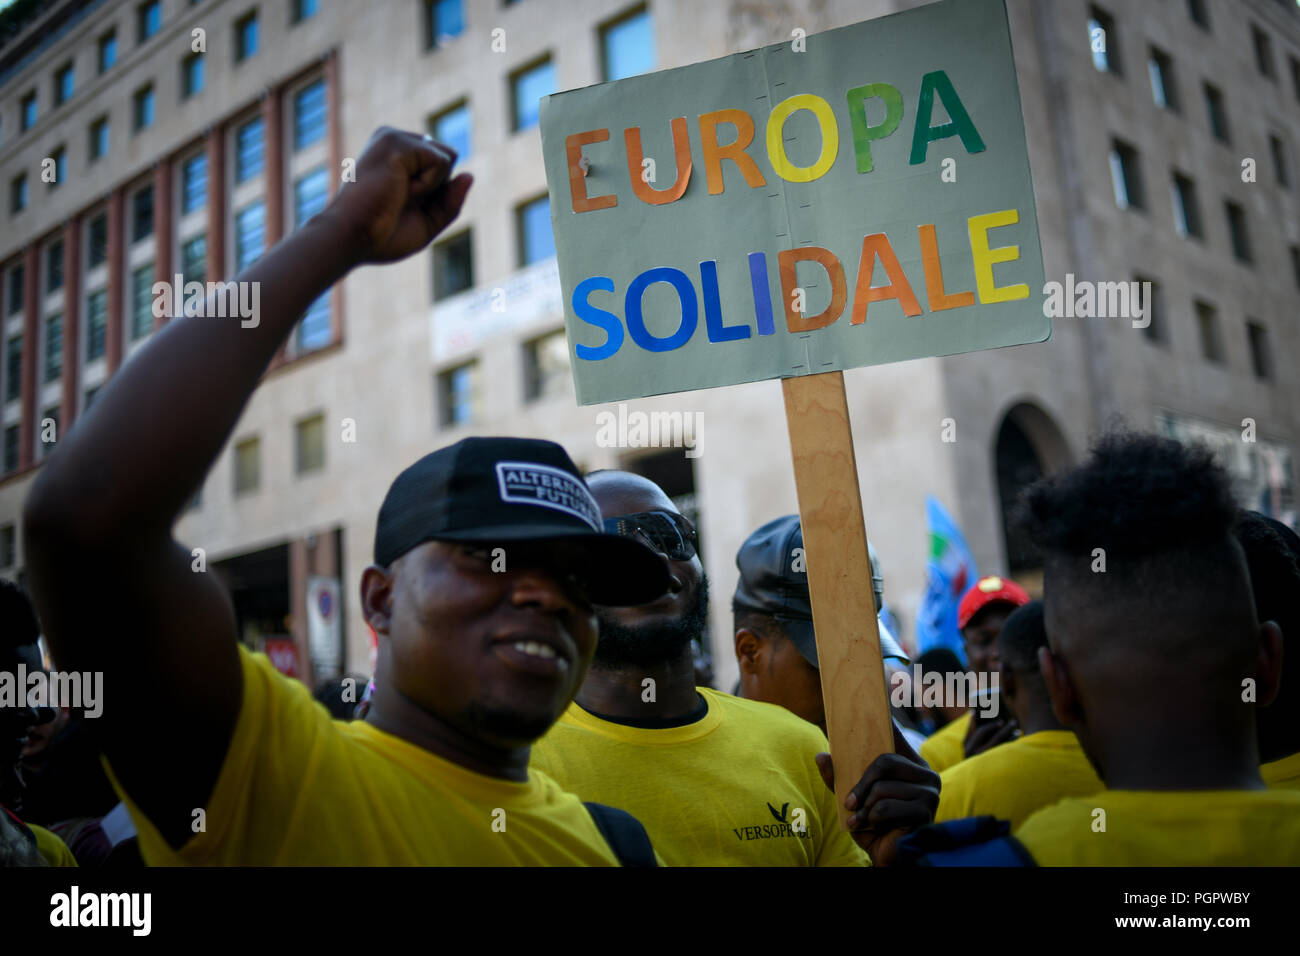
[[[1245,551],[1256,617],[1282,628],[1283,661],[1300,659],[1300,535],[1275,518],[1243,511],[1236,540]],[[1300,670],[1300,665],[1292,663]],[[1273,702],[1260,708],[1260,775],[1270,787],[1300,790],[1300,688],[1282,682]]]

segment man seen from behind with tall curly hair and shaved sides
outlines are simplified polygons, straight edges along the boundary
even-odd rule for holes
[[[1106,790],[1032,814],[1019,844],[1053,866],[1300,864],[1300,792],[1265,787],[1256,735],[1282,632],[1256,617],[1227,472],[1204,446],[1113,433],[1024,507],[1053,713]]]

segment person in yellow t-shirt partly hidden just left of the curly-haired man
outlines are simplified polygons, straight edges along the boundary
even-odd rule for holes
[[[1039,671],[1043,602],[1017,607],[997,636],[1001,702],[1023,735],[939,775],[936,822],[993,816],[1019,826],[1035,810],[1104,788],[1074,731],[1057,721]]]

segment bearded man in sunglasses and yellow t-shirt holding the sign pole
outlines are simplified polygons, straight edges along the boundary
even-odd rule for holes
[[[592,670],[534,744],[533,766],[636,816],[671,866],[863,865],[863,849],[887,861],[898,827],[933,818],[937,778],[897,754],[878,758],[850,806],[850,826],[872,831],[840,830],[831,767],[815,762],[827,749],[816,727],[696,687],[690,643],[705,632],[708,581],[690,523],[638,475],[599,471],[588,483],[606,529],[664,555],[671,583],[650,604],[597,607]]]

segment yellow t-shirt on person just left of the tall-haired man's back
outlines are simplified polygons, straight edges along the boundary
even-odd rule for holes
[[[1018,827],[1069,796],[1105,790],[1074,731],[1044,730],[963,760],[939,775],[935,822],[992,814]]]

